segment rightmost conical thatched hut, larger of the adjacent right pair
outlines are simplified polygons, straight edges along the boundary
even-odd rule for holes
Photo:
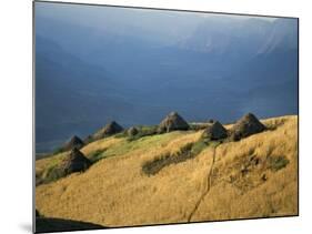
[[[249,135],[262,132],[265,126],[252,113],[245,114],[231,129],[231,139],[239,141]]]

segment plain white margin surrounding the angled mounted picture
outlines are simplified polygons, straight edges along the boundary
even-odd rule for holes
[[[64,0],[66,1],[66,0]],[[310,230],[311,165],[311,7],[303,0],[74,0],[182,10],[288,16],[300,18],[300,217],[217,222],[74,233],[306,233]],[[32,2],[1,1],[1,233],[31,232],[32,154]],[[311,143],[310,143],[311,144]]]

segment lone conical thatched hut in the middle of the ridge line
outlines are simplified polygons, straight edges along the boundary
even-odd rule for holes
[[[171,132],[174,130],[189,130],[189,124],[177,112],[171,112],[158,126],[158,132]]]

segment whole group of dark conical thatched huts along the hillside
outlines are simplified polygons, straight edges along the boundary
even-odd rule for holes
[[[190,129],[192,128],[182,116],[180,116],[177,112],[171,112],[158,125],[155,134],[178,130],[187,131]],[[204,125],[201,138],[209,141],[219,141],[225,139],[229,141],[239,141],[264,130],[265,126],[256,119],[256,116],[254,116],[252,113],[248,113],[236,123],[234,123],[230,130],[227,130],[219,121],[208,121],[208,123]],[[84,171],[91,165],[91,162],[83,155],[83,153],[79,151],[79,149],[83,147],[89,142],[108,138],[117,133],[125,132],[128,135],[135,135],[139,133],[139,131],[140,130],[135,126],[124,130],[117,122],[112,121],[94,134],[89,135],[84,141],[78,136],[72,136],[71,140],[61,147],[62,151],[71,151],[67,159],[62,162],[61,166],[66,174]]]

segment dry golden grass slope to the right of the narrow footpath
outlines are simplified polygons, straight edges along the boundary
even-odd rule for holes
[[[276,130],[220,145],[213,186],[193,221],[298,214],[296,121],[296,116],[269,119],[263,121],[265,125],[278,126]],[[242,176],[240,166],[251,155],[260,163]],[[268,169],[268,157],[275,156],[289,160],[289,164],[276,172]]]

